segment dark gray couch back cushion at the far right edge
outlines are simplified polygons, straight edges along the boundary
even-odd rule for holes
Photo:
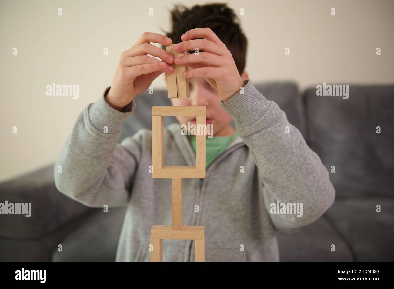
[[[349,86],[349,98],[305,92],[310,147],[330,171],[336,197],[393,197],[394,86]],[[376,127],[381,127],[381,134]]]

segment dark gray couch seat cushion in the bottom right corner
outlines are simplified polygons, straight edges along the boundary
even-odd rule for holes
[[[393,199],[338,200],[325,215],[352,248],[355,261],[394,261]]]

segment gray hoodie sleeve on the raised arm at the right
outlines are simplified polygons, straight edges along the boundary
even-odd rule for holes
[[[264,204],[276,229],[312,223],[334,202],[327,169],[279,106],[268,101],[249,79],[226,102],[220,101],[251,149],[261,180]],[[279,203],[302,204],[302,214],[273,214]],[[298,215],[298,216],[297,216]]]

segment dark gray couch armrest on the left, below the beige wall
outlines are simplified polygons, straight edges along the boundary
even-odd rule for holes
[[[0,202],[6,201],[31,203],[30,217],[25,214],[4,214],[0,217],[0,237],[14,240],[47,237],[92,210],[56,189],[53,164],[2,182]]]

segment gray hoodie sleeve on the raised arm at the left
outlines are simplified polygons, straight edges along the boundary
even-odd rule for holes
[[[122,112],[113,109],[104,99],[109,89],[80,113],[54,165],[56,188],[91,207],[128,203],[141,152],[138,133],[117,144],[121,125],[136,103],[131,101]]]

